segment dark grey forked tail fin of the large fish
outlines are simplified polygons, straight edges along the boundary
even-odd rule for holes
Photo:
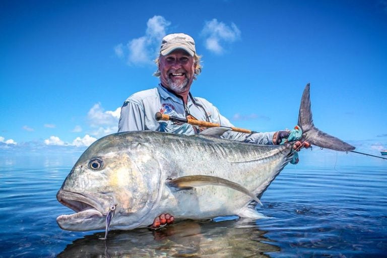
[[[352,151],[355,149],[352,145],[318,130],[313,124],[310,106],[310,84],[308,83],[302,93],[300,110],[298,113],[298,125],[302,129],[302,140],[307,141],[312,145],[335,151]]]

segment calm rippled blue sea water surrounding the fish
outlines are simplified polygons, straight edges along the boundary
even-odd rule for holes
[[[387,161],[303,151],[257,209],[265,219],[69,232],[56,192],[79,153],[0,154],[0,257],[387,257]]]

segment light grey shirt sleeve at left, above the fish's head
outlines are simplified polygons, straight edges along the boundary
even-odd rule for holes
[[[127,131],[144,131],[144,121],[144,107],[131,100],[126,100],[121,107],[121,116],[118,121],[118,133]]]

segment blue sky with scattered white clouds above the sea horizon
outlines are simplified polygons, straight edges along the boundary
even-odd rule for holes
[[[361,151],[387,149],[387,1],[2,1],[0,150],[86,148],[153,88],[162,36],[191,35],[191,88],[238,127],[315,125]]]

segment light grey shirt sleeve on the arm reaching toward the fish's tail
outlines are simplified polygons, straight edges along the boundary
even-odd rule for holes
[[[234,127],[234,125],[226,117],[220,114],[218,108],[216,107],[214,107],[214,116],[219,117],[220,125],[227,126],[227,127]],[[275,132],[245,134],[245,133],[228,131],[222,135],[222,138],[233,140],[233,141],[245,142],[245,143],[273,145],[274,133]]]

